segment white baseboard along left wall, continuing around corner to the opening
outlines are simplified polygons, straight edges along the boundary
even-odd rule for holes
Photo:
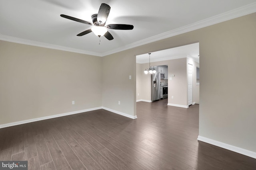
[[[137,118],[137,116],[128,115],[126,113],[122,113],[120,111],[115,111],[115,110],[112,110],[112,109],[108,109],[106,107],[95,107],[95,108],[91,108],[91,109],[72,111],[72,112],[62,113],[62,114],[58,114],[58,115],[50,115],[50,116],[39,117],[39,118],[35,118],[35,119],[28,119],[28,120],[24,120],[24,121],[6,123],[6,124],[0,125],[0,129],[4,128],[4,127],[16,126],[16,125],[21,125],[21,124],[25,124],[25,123],[31,123],[31,122],[34,122],[34,121],[41,121],[41,120],[52,119],[52,118],[62,117],[62,116],[67,116],[67,115],[74,115],[74,114],[77,114],[77,113],[84,113],[84,112],[87,112],[87,111],[93,111],[93,110],[98,110],[98,109],[105,109],[105,110],[111,111],[113,113],[116,113],[118,115],[129,117],[131,119],[136,119]]]

